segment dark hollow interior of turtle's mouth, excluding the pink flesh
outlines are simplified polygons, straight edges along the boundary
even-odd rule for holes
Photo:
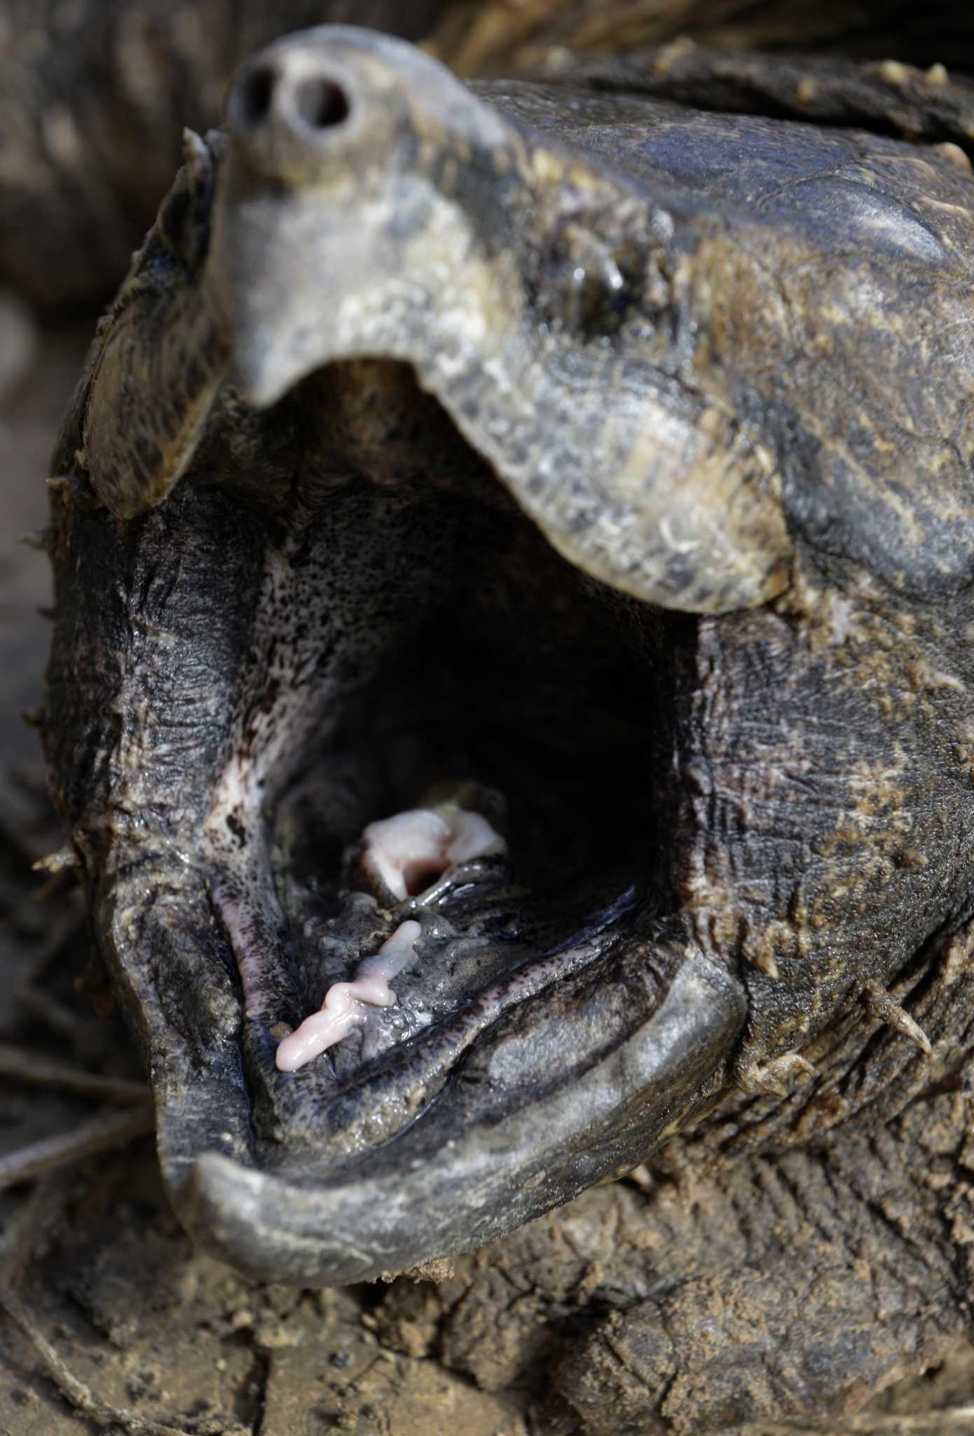
[[[293,982],[277,1035],[400,922],[422,926],[396,1007],[297,1074],[323,1097],[651,899],[671,763],[666,615],[574,569],[475,455],[452,452],[448,474],[420,462],[334,482],[291,560],[320,603],[321,694],[285,745],[287,783],[270,784]],[[483,813],[506,856],[459,867],[432,899],[422,882],[400,903],[370,890],[366,824],[443,797]]]

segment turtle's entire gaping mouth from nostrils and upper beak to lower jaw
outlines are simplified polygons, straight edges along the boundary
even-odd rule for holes
[[[57,639],[125,653],[92,905],[176,1209],[244,1271],[478,1245],[727,1081],[747,997],[687,912],[681,754],[699,615],[790,550],[674,348],[679,253],[633,260],[671,234],[324,29],[189,141],[96,340],[59,462],[113,517],[72,516],[102,557]]]

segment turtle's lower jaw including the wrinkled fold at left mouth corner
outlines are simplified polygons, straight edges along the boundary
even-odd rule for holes
[[[271,1032],[291,969],[278,954],[283,984],[268,971],[245,1011],[214,875],[166,863],[118,879],[96,920],[174,1205],[255,1277],[340,1284],[479,1245],[643,1160],[726,1080],[744,994],[624,872],[524,899],[506,962],[420,1034],[293,1077]]]

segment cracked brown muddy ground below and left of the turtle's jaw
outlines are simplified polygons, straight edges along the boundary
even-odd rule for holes
[[[247,1284],[194,1254],[166,1208],[151,1134],[132,1136],[148,1126],[141,1073],[92,961],[80,895],[70,873],[32,872],[60,846],[36,732],[20,718],[40,696],[37,610],[50,596],[46,559],[16,538],[44,523],[47,454],[89,325],[43,336],[30,362],[11,323],[0,346],[10,358],[22,343],[24,376],[4,381],[0,366],[0,1436],[552,1430],[535,1413],[554,1351],[532,1304],[531,1234],[458,1262],[439,1285],[308,1292]],[[85,1074],[103,1078],[98,1090]],[[43,1159],[47,1139],[89,1129],[95,1144],[115,1144],[11,1182],[39,1143]],[[538,1249],[549,1254],[552,1231],[564,1238],[568,1308],[597,1279],[610,1218],[625,1206],[631,1222],[643,1199],[625,1183],[536,1223]],[[509,1301],[481,1307],[493,1278]],[[947,1412],[973,1400],[963,1343],[842,1429],[974,1432],[974,1419]]]

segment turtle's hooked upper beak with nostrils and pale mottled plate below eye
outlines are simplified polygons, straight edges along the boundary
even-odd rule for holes
[[[792,546],[760,438],[674,385],[658,346],[621,352],[620,386],[584,326],[538,310],[577,194],[602,215],[598,256],[618,214],[651,247],[646,190],[547,148],[410,46],[340,26],[245,67],[227,123],[209,284],[250,404],[337,360],[405,362],[592,577],[691,612],[783,589]],[[673,264],[681,309],[694,279]]]

